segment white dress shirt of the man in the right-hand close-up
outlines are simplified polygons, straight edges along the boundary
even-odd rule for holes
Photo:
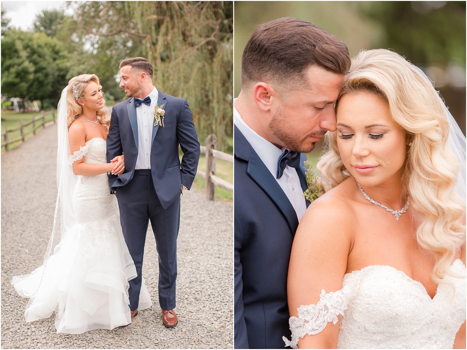
[[[233,101],[235,101],[234,99]],[[245,121],[241,118],[241,115],[233,107],[233,123],[241,131],[243,136],[251,144],[255,152],[261,158],[262,162],[271,175],[276,179],[277,174],[277,160],[279,159],[285,148],[277,148],[275,145],[270,143],[268,140],[258,135],[253,129],[251,129]],[[281,186],[287,198],[297,213],[297,219],[300,221],[306,210],[306,200],[303,196],[302,186],[300,185],[300,178],[297,174],[297,169],[287,165],[284,169],[283,175],[280,179],[276,179],[279,186]]]

